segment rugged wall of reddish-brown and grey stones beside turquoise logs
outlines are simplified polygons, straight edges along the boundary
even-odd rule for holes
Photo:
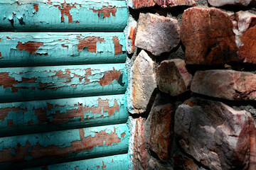
[[[130,169],[256,169],[255,2],[128,1]]]

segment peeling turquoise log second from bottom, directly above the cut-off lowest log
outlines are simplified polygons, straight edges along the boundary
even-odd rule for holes
[[[22,169],[61,162],[124,154],[126,124],[0,138],[0,167]]]

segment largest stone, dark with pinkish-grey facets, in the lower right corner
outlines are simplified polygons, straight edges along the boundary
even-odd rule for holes
[[[190,98],[178,106],[174,132],[182,149],[209,169],[254,169],[256,128],[250,113]]]

